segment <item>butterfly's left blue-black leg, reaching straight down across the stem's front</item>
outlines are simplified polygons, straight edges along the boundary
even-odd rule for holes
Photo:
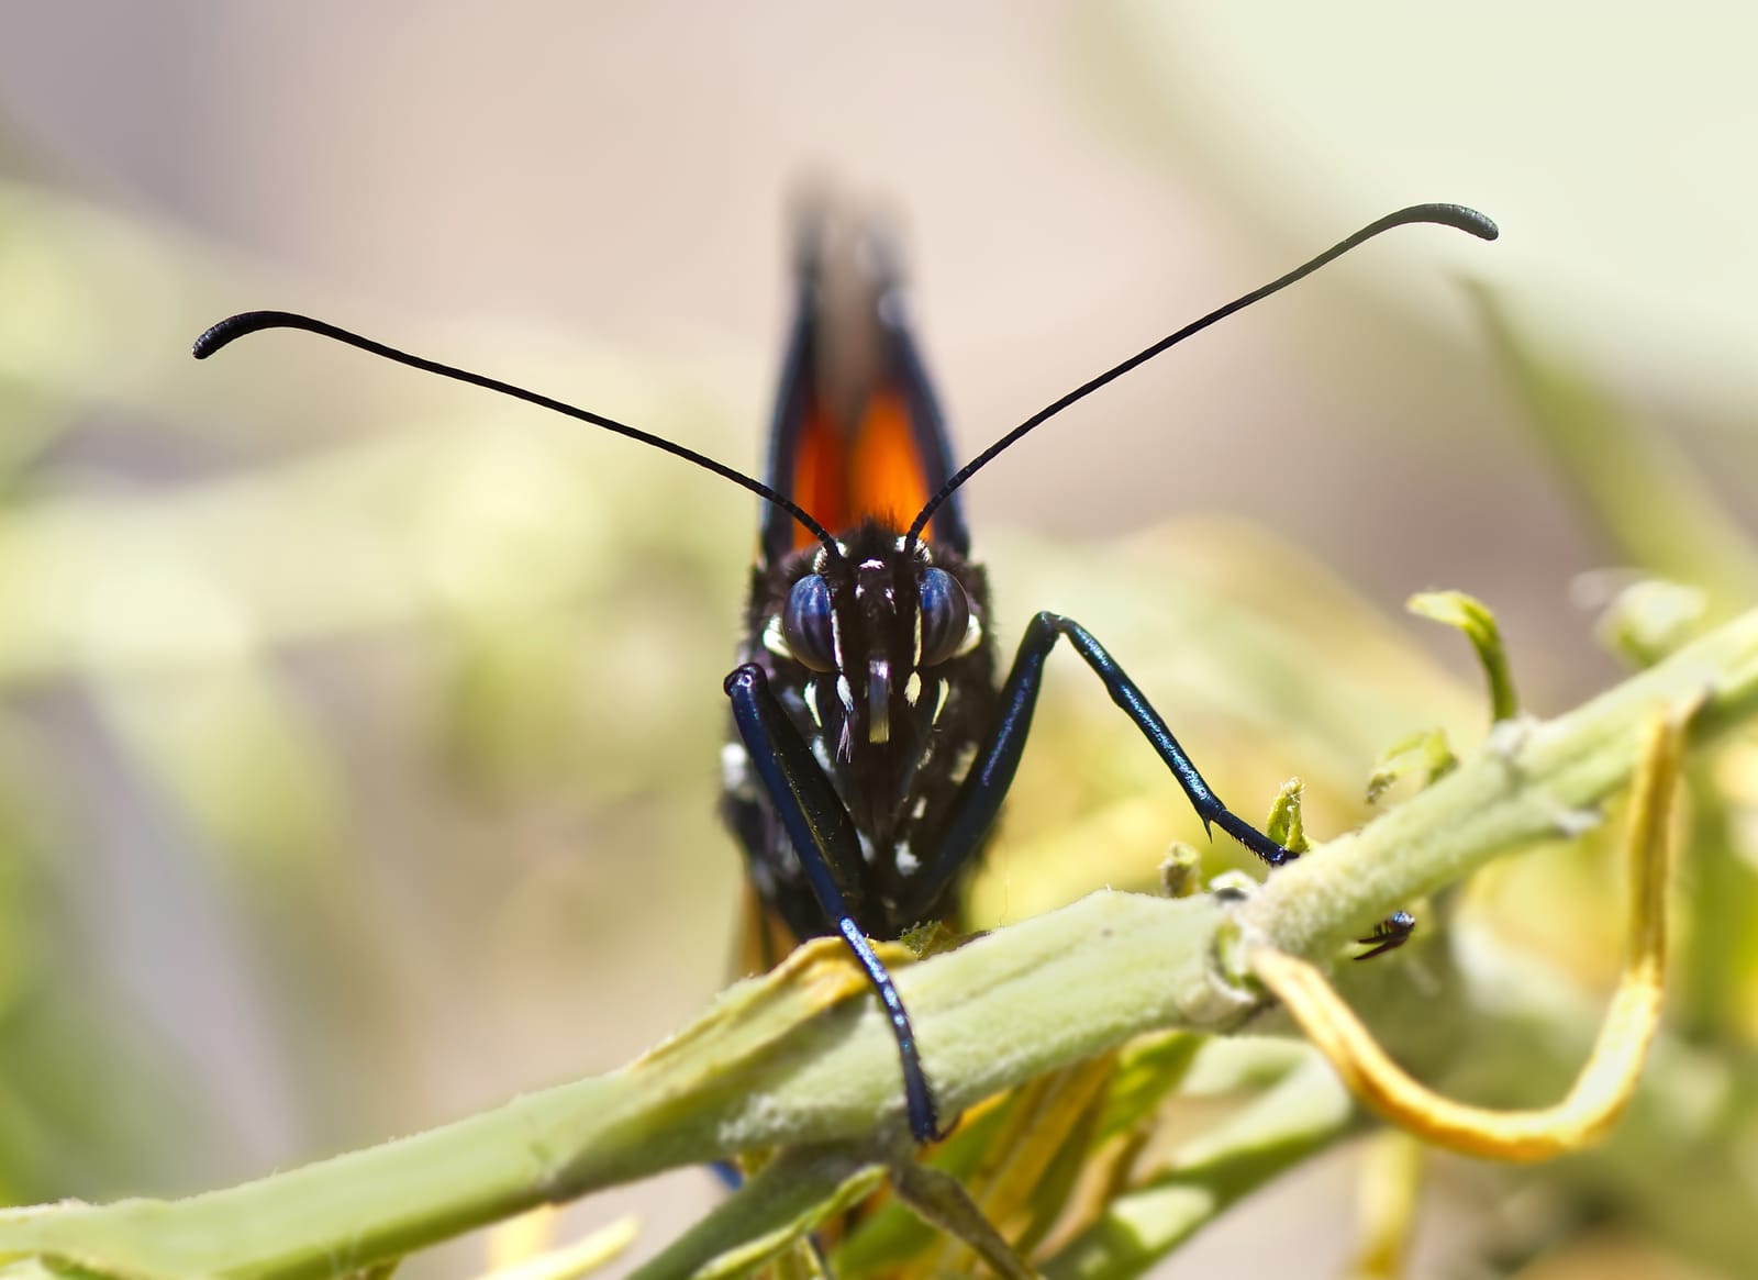
[[[747,663],[726,677],[726,696],[733,702],[733,723],[744,738],[751,765],[763,782],[775,812],[793,840],[812,895],[842,941],[849,944],[867,981],[879,993],[891,1034],[897,1037],[898,1058],[904,1064],[904,1101],[909,1104],[909,1131],[918,1143],[941,1136],[933,1094],[921,1069],[916,1032],[909,1025],[909,1011],[897,993],[897,985],[884,964],[874,953],[872,942],[854,923],[858,909],[858,881],[849,874],[860,867],[860,839],[849,811],[837,798],[825,770],[812,760],[810,747],[788,721],[775,695],[770,693],[763,668]]]

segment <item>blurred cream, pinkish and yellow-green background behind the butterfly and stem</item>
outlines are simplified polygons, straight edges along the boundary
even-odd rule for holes
[[[1705,476],[1656,519],[1714,527],[1644,568],[1712,545],[1718,607],[1751,585],[1754,39],[1725,4],[9,5],[0,1190],[181,1194],[431,1125],[726,978],[751,499],[299,336],[197,366],[211,320],[313,311],[756,466],[788,193],[835,181],[905,229],[969,455],[1391,207],[1482,207],[1496,246],[1377,243],[967,491],[1004,645],[1083,619],[1238,807],[1303,772],[1324,835],[1389,744],[1482,730],[1412,591],[1496,607],[1536,712],[1619,670],[1582,608],[1617,578],[1582,575],[1645,543],[1596,515],[1591,431],[1573,471],[1529,433],[1464,278],[1658,450],[1638,480]],[[1194,835],[1072,661],[1044,721],[993,920]],[[1322,1273],[1347,1164],[1166,1273]],[[657,1243],[712,1190],[622,1199]],[[1494,1197],[1456,1199],[1424,1257],[1463,1268]]]

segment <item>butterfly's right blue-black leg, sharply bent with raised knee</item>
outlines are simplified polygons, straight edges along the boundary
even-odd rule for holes
[[[923,883],[923,902],[932,902],[939,895],[993,825],[1002,796],[1006,796],[1014,770],[1020,767],[1020,754],[1025,751],[1025,738],[1032,728],[1032,710],[1037,707],[1037,689],[1044,679],[1044,659],[1050,658],[1058,636],[1065,636],[1074,652],[1086,659],[1086,665],[1104,682],[1111,702],[1123,709],[1123,714],[1148,738],[1148,745],[1173,770],[1173,777],[1190,796],[1204,826],[1220,826],[1271,867],[1280,867],[1296,856],[1220,802],[1220,796],[1202,781],[1197,767],[1190,763],[1190,756],[1178,745],[1178,738],[1173,737],[1160,714],[1153,710],[1136,682],[1086,628],[1060,614],[1042,612],[1032,619],[1020,640],[1013,670],[1002,687],[1000,716],[960,789],[946,837],[935,851],[933,869]]]

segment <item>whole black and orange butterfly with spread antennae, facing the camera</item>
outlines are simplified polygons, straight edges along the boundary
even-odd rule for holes
[[[1000,673],[960,491],[1076,401],[1410,223],[1498,236],[1489,218],[1457,204],[1391,213],[1069,390],[956,469],[895,260],[870,243],[854,304],[835,311],[823,229],[800,237],[766,480],[603,413],[290,311],[229,316],[195,341],[195,357],[265,329],[302,329],[638,440],[765,499],[744,638],[724,682],[733,735],[723,753],[723,812],[756,904],[752,953],[774,960],[800,939],[844,939],[897,1039],[909,1129],[930,1141],[942,1134],[939,1108],[909,1011],[872,939],[897,939],[951,913],[995,826],[1058,642],[1134,723],[1204,826],[1220,826],[1271,867],[1294,856],[1222,804],[1144,691],[1074,619],[1035,614]],[[856,371],[833,373],[851,353]],[[1362,939],[1368,955],[1391,949],[1412,927],[1408,914],[1391,916]]]

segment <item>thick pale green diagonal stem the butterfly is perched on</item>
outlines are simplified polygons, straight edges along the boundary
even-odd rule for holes
[[[1512,844],[1566,833],[1630,775],[1647,717],[1693,737],[1758,710],[1758,612],[1547,724],[1512,723],[1445,779],[1246,900],[1093,893],[911,965],[898,988],[946,1113],[1148,1030],[1227,1030],[1259,997],[1229,937],[1326,958]],[[186,1201],[0,1215],[0,1257],[132,1280],[360,1269],[545,1201],[754,1148],[900,1136],[897,1051],[830,944],[733,986],[622,1071],[385,1146]],[[1078,1271],[1078,1268],[1076,1268]]]

